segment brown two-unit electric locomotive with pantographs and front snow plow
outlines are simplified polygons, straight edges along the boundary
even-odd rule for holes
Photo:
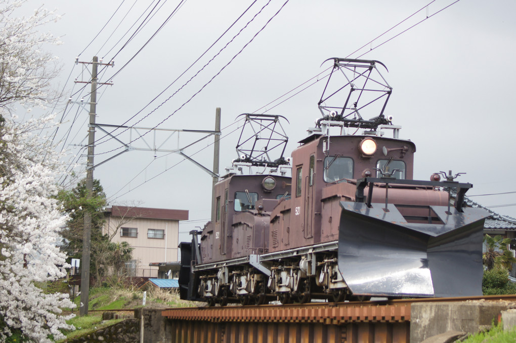
[[[283,158],[278,130],[285,118],[243,115],[260,130],[240,136],[239,158],[214,188],[214,220],[180,245],[182,299],[246,305],[481,294],[487,212],[464,206],[472,185],[451,171],[414,180],[415,145],[383,114],[392,91],[377,69],[383,64],[332,60],[322,116],[292,160]],[[333,86],[336,74],[344,85]],[[377,115],[363,119],[369,108]],[[270,158],[272,148],[283,148],[280,158]]]

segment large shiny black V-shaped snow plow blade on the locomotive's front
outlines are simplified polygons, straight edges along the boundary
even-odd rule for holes
[[[488,212],[427,206],[426,223],[398,207],[341,201],[338,269],[353,294],[462,297],[482,294],[482,230]],[[449,212],[448,212],[449,209]]]

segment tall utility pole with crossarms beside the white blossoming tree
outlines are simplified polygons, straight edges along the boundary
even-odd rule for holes
[[[77,83],[91,83],[90,95],[90,120],[88,125],[88,162],[86,164],[86,198],[89,200],[93,194],[93,157],[95,143],[95,117],[96,117],[96,90],[98,85],[97,71],[98,66],[114,66],[113,61],[108,64],[99,63],[97,56],[93,57],[92,62],[79,62],[78,58],[75,63],[91,64],[91,81],[76,81]],[[111,85],[112,83],[102,83]],[[80,269],[80,304],[79,315],[88,314],[89,293],[90,293],[90,255],[91,255],[91,214],[88,211],[84,213],[84,231],[83,231],[83,267]]]

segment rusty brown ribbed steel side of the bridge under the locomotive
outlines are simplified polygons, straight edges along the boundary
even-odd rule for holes
[[[176,308],[168,318],[172,342],[376,343],[410,341],[416,302],[516,301],[516,295],[393,301]],[[167,339],[167,341],[170,341]]]

